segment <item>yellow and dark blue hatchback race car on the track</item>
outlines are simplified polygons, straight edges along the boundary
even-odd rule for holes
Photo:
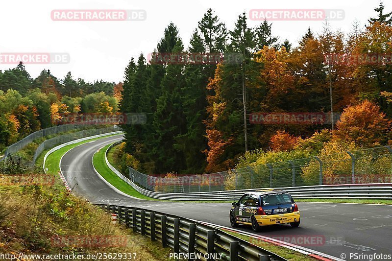
[[[299,211],[293,197],[283,190],[257,190],[245,193],[238,202],[232,203],[230,224],[251,225],[254,232],[262,226],[287,224],[299,226]]]

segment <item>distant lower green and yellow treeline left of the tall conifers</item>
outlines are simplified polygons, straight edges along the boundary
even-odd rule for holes
[[[32,78],[21,62],[0,71],[0,150],[70,113],[117,112],[122,83],[94,83],[71,72],[59,80],[49,70]]]

